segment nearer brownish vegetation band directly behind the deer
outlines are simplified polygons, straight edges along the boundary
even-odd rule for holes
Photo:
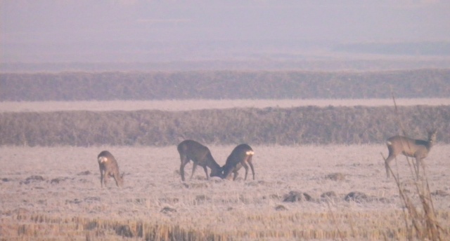
[[[450,143],[450,106],[399,107],[416,139],[438,130]],[[401,134],[392,107],[207,109],[198,111],[56,111],[0,113],[0,145],[166,146],[203,144],[368,144]]]

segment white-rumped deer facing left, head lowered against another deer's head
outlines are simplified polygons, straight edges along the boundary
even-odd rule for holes
[[[240,167],[245,168],[245,180],[247,180],[248,165],[252,168],[253,180],[255,180],[255,169],[252,164],[252,157],[255,154],[253,149],[248,144],[240,144],[236,146],[231,152],[230,156],[226,158],[226,163],[222,167],[224,174],[222,178],[229,179],[231,173],[234,174],[233,181],[238,177],[238,170]],[[247,165],[248,164],[248,165]]]

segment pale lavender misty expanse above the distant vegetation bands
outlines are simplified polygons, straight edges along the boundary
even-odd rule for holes
[[[444,1],[189,3],[1,1],[0,62],[450,55],[450,3]]]

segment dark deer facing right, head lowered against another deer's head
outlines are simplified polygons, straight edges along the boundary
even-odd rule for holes
[[[211,169],[211,177],[221,177],[221,167],[216,163],[216,160],[212,158],[211,151],[206,146],[195,142],[193,140],[185,140],[181,142],[177,146],[178,152],[180,153],[181,166],[180,166],[180,174],[181,180],[184,181],[184,166],[189,163],[189,160],[192,160],[193,167],[191,173],[191,179],[194,175],[195,169],[197,165],[203,167],[206,174],[206,179],[210,179],[208,177],[208,172],[206,167],[210,167]]]

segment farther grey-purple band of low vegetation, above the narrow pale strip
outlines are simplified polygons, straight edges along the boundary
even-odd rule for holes
[[[450,69],[0,74],[0,101],[449,97]]]

